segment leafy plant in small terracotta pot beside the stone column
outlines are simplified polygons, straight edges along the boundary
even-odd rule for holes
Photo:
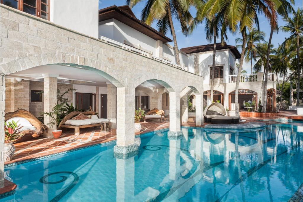
[[[64,117],[64,104],[56,104],[52,111],[50,112],[42,112],[41,114],[45,114],[49,116],[51,119],[48,124],[49,126],[55,126],[56,128],[60,124],[62,117]],[[62,134],[62,130],[53,130],[52,134],[54,138],[59,138]]]

